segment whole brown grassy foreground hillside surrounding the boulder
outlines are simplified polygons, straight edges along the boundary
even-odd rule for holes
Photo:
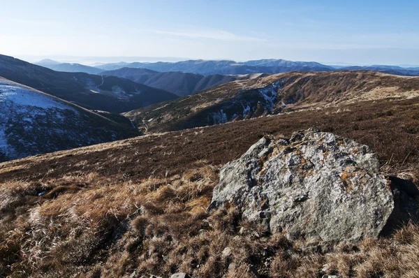
[[[266,134],[316,126],[419,184],[419,98],[142,136],[0,164],[0,277],[419,277],[419,226],[332,250],[207,213],[218,171]],[[42,196],[38,196],[43,193]]]

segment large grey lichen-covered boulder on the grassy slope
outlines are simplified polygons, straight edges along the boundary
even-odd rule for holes
[[[394,208],[376,154],[315,129],[264,137],[221,169],[209,210],[235,205],[271,232],[318,242],[376,237]]]

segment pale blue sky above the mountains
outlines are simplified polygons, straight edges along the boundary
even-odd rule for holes
[[[419,1],[3,1],[0,53],[419,65]]]

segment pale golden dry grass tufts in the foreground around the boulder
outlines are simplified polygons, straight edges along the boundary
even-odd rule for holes
[[[54,186],[3,184],[0,275],[164,277],[181,271],[195,277],[418,277],[418,226],[328,253],[307,249],[240,219],[234,207],[207,214],[216,174],[205,165],[142,182],[92,173],[50,180],[61,184]],[[62,190],[71,180],[84,186]],[[60,194],[36,198],[36,189]]]

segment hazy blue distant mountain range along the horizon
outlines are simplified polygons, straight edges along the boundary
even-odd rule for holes
[[[177,62],[133,62],[120,61],[110,64],[96,64],[84,66],[81,64],[60,63],[51,59],[44,59],[36,63],[51,68],[54,71],[84,72],[103,74],[103,71],[115,71],[120,68],[145,68],[158,72],[181,71],[184,73],[198,73],[200,75],[247,75],[250,73],[286,73],[289,71],[336,71],[336,70],[369,70],[391,73],[395,75],[419,75],[419,67],[401,67],[387,65],[373,66],[328,66],[314,61],[288,61],[284,59],[260,59],[237,62],[231,60],[187,60]],[[130,78],[131,79],[131,78]],[[136,81],[139,82],[139,81]]]

